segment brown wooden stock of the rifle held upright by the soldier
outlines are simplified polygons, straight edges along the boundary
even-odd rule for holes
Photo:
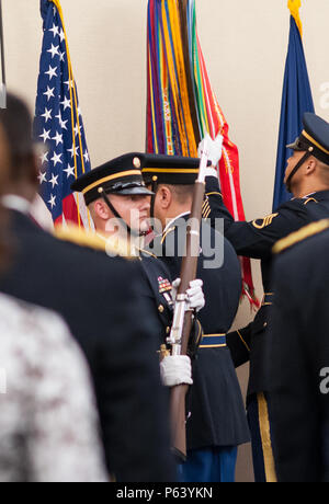
[[[185,298],[186,290],[190,288],[190,283],[196,278],[197,263],[201,250],[200,233],[202,220],[202,207],[204,203],[205,184],[195,182],[194,197],[190,221],[188,224],[186,234],[186,254],[182,260],[181,267],[181,285],[178,290],[177,299]],[[186,355],[189,340],[193,324],[193,312],[186,311],[183,322],[182,340],[180,355]],[[179,385],[171,390],[171,426],[173,436],[173,449],[175,455],[186,459],[186,413],[185,398],[189,386]]]

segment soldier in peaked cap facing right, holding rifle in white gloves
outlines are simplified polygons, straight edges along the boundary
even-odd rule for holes
[[[145,154],[127,153],[80,176],[72,191],[84,196],[100,238],[117,243],[137,255],[144,275],[139,295],[145,299],[149,312],[158,321],[154,334],[158,341],[159,353],[170,334],[174,308],[174,290],[171,276],[166,266],[150,252],[143,249],[144,236],[149,230],[150,192],[143,180],[141,165]],[[200,311],[204,306],[202,282],[191,283],[188,293],[190,309]],[[195,319],[192,342],[200,340],[201,325]],[[191,344],[191,348],[193,343]],[[191,353],[192,350],[191,350]],[[166,355],[166,356],[164,356]],[[167,387],[180,383],[192,385],[192,367],[189,356],[169,356],[164,353],[160,369],[162,382]]]

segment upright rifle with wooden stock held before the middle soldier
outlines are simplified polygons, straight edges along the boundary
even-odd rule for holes
[[[171,345],[172,355],[186,355],[190,334],[193,324],[193,312],[186,311],[186,290],[190,283],[196,278],[200,256],[200,233],[202,221],[202,206],[205,195],[205,176],[211,150],[222,152],[222,142],[216,144],[207,136],[200,145],[202,152],[198,177],[195,182],[191,217],[188,224],[186,254],[182,260],[181,285],[178,290],[173,324],[167,343]],[[185,429],[185,397],[188,385],[179,385],[171,390],[171,426],[173,450],[179,459],[186,460],[186,429]]]

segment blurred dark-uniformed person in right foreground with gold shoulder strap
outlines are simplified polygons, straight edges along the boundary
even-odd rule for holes
[[[274,252],[266,342],[273,478],[328,483],[329,220],[281,240]]]

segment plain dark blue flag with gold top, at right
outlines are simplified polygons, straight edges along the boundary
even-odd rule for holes
[[[292,150],[286,149],[302,133],[303,115],[315,112],[303,48],[303,27],[299,18],[302,0],[288,0],[291,33],[283,84],[279,147],[275,171],[273,210],[292,198],[284,185],[287,159]]]

